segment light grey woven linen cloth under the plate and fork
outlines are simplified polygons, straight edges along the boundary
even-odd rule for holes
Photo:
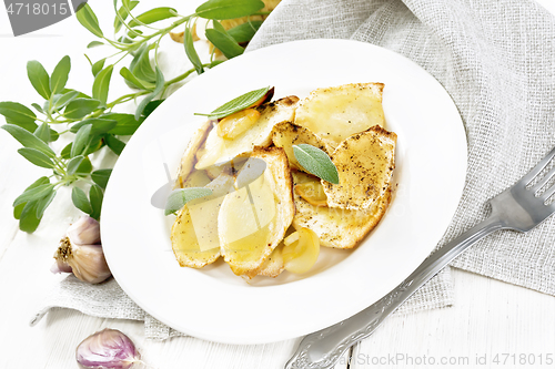
[[[485,202],[517,181],[555,143],[555,19],[533,1],[283,0],[248,50],[317,38],[359,40],[396,51],[427,70],[453,98],[466,127],[468,173],[438,247],[484,219]],[[453,265],[555,295],[554,224],[555,218],[548,219],[526,235],[500,232]],[[452,303],[447,268],[398,312]],[[60,307],[144,320],[148,338],[181,335],[140,309],[113,279],[91,286],[65,278],[42,301],[31,324]]]

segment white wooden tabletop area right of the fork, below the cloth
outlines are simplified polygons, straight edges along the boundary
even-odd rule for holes
[[[355,347],[351,368],[426,368],[431,360],[447,360],[448,368],[531,368],[539,355],[555,361],[553,296],[457,269],[453,277],[454,307],[389,318]]]

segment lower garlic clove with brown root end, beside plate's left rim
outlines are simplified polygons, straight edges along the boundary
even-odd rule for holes
[[[69,237],[64,237],[54,253],[54,259],[90,284],[99,284],[112,275],[101,245],[74,245]]]

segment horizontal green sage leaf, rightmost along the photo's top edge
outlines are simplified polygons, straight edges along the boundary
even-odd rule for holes
[[[260,0],[209,0],[196,8],[195,13],[206,19],[233,19],[246,17],[264,8]]]

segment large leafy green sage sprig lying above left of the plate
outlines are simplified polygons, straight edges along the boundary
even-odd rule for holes
[[[138,4],[139,1],[113,0],[113,32],[102,30],[90,4],[85,3],[77,11],[78,21],[95,37],[87,48],[111,49],[105,58],[97,61],[84,55],[94,76],[92,86],[83,90],[68,88],[69,57],[63,57],[51,73],[39,61],[30,61],[27,64],[29,82],[42,102],[29,106],[19,102],[0,102],[0,115],[7,122],[1,127],[23,146],[18,150],[19,154],[31,164],[51,171],[51,175],[33,182],[14,201],[13,216],[19,219],[20,229],[29,233],[37,229],[46,208],[62,186],[72,187],[71,198],[77,208],[98,219],[111,168],[93,167],[91,157],[101,150],[120,155],[125,147],[121,136],[130,136],[139,129],[164,101],[164,92],[170,85],[221,63],[213,59],[213,54],[210,62],[201,62],[192,41],[195,21],[204,18],[214,22],[214,28],[206,30],[206,38],[231,59],[243,52],[244,43],[251,40],[261,22],[249,20],[248,25],[225,30],[218,20],[251,17],[264,7],[260,0],[209,0],[194,13],[180,16],[168,7],[135,14],[133,10]],[[169,22],[168,27],[154,27],[162,20]],[[185,27],[185,40],[189,40],[184,51],[193,68],[168,80],[158,65],[160,41],[182,27]],[[122,65],[124,62],[128,64]],[[118,74],[132,91],[111,100],[110,85]],[[118,105],[129,101],[138,102],[134,114],[115,111]],[[50,144],[59,136],[69,139],[70,143],[54,152]],[[205,194],[205,189],[201,193]],[[173,207],[189,201],[192,195],[183,196],[173,195]]]

